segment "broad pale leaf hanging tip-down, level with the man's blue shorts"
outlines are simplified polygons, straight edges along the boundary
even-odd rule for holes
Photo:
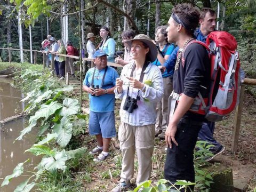
[[[59,124],[55,124],[53,127],[53,132],[58,134],[57,142],[62,147],[68,145],[72,137],[72,124],[67,117],[63,117]]]

